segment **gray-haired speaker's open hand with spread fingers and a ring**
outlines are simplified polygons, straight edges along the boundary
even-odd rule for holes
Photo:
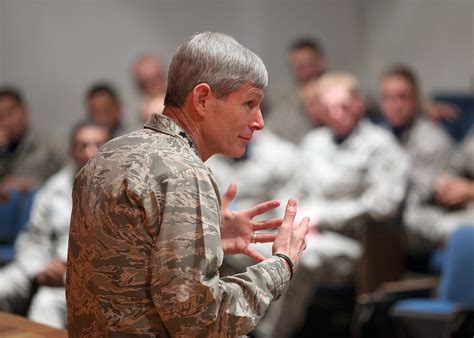
[[[274,218],[262,222],[253,222],[252,218],[261,215],[280,205],[278,201],[268,201],[242,211],[231,211],[229,205],[237,193],[237,186],[230,184],[222,197],[221,207],[221,240],[225,255],[246,254],[261,262],[265,257],[250,245],[255,231],[272,229],[280,226],[282,220]],[[273,242],[276,234],[258,233],[255,241],[259,243]]]

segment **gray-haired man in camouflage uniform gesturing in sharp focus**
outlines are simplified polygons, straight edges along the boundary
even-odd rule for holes
[[[309,219],[253,222],[278,201],[232,212],[203,161],[240,157],[263,128],[261,59],[233,38],[199,33],[170,65],[163,114],[116,138],[79,172],[67,267],[68,331],[83,336],[235,337],[287,288]],[[280,225],[278,233],[255,232]],[[252,243],[270,242],[264,259]],[[224,254],[260,261],[220,277]]]

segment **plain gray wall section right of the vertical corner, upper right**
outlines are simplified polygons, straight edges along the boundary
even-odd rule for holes
[[[474,1],[363,0],[365,83],[391,63],[416,69],[426,94],[474,90]]]

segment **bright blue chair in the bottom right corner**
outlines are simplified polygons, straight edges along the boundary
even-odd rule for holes
[[[452,337],[461,319],[470,323],[465,330],[473,337],[472,314],[474,226],[465,226],[454,232],[448,241],[438,297],[400,300],[391,307],[390,317],[398,337]]]

